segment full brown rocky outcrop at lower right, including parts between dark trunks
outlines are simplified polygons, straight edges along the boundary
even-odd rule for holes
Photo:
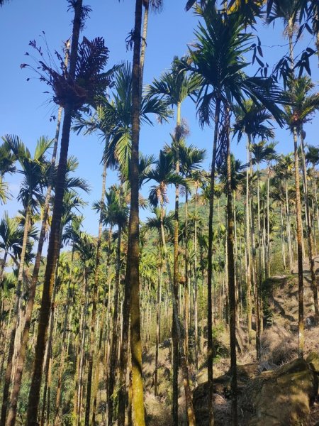
[[[297,426],[305,424],[310,407],[318,396],[319,355],[296,359],[277,367],[272,364],[238,366],[238,403],[240,425]],[[214,380],[215,425],[229,425],[230,376]],[[194,391],[196,424],[208,425],[208,384]],[[307,423],[308,424],[308,423]]]

